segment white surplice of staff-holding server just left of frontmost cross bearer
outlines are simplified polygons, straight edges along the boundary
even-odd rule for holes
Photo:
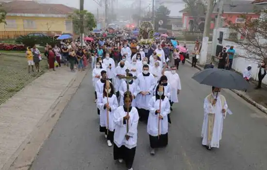
[[[106,103],[107,103],[107,97],[103,97],[103,94],[98,96],[97,106],[100,110],[100,126],[108,127],[108,129],[113,132],[115,129],[114,113],[118,107],[116,95],[113,94],[111,97],[108,98],[108,104],[111,109],[111,111],[109,112],[107,112],[107,108],[104,109],[104,105]]]

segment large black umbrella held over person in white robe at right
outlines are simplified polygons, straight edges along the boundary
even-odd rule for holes
[[[192,79],[202,85],[234,90],[245,90],[250,86],[240,74],[226,69],[207,68],[196,73]]]

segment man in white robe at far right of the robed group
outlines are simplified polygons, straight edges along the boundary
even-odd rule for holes
[[[172,111],[172,105],[175,102],[179,102],[178,101],[178,95],[182,89],[181,87],[181,80],[180,77],[178,75],[177,68],[176,66],[171,66],[170,67],[170,71],[165,71],[165,68],[163,68],[163,75],[166,75],[167,79],[168,79],[168,83],[170,84],[171,87],[171,94],[170,94],[170,110]]]

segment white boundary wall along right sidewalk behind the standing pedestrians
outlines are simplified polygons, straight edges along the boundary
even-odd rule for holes
[[[222,44],[223,44],[223,47],[227,45],[229,46],[233,45],[236,55],[241,55],[241,56],[247,55],[246,51],[238,47],[238,45],[232,41],[223,40]],[[245,59],[242,57],[236,57],[234,58],[232,68],[236,70],[237,72],[242,73],[249,65],[251,65],[252,67],[252,78],[254,80],[258,80],[259,68],[258,68],[258,63],[256,62],[250,61],[249,59]],[[267,76],[265,76],[265,78],[263,79],[263,83],[267,85]]]

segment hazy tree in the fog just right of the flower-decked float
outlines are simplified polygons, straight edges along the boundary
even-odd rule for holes
[[[167,23],[168,23],[168,17],[169,17],[169,14],[170,14],[170,10],[164,6],[164,5],[161,5],[157,11],[155,12],[155,29],[157,30],[158,27],[159,27],[159,24],[158,22],[160,20],[163,21],[163,24],[161,25],[161,27],[163,28],[166,28],[167,26]]]

